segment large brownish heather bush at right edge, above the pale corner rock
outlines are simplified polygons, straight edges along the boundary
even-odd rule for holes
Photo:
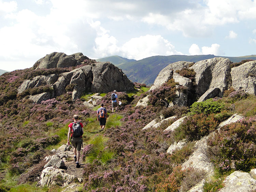
[[[248,172],[256,166],[256,120],[249,118],[221,128],[208,140],[208,159],[221,173]]]

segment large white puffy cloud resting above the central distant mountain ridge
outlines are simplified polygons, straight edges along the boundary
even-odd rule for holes
[[[123,57],[136,60],[156,55],[182,55],[161,35],[145,35],[132,38],[122,46],[121,54]]]

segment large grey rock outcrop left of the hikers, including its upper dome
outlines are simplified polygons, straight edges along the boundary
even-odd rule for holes
[[[73,54],[72,57],[63,53],[52,53],[39,59],[35,63],[34,68],[77,66],[77,63],[81,64],[79,60],[88,59],[82,53]],[[67,91],[72,91],[72,99],[76,100],[85,91],[106,93],[113,90],[129,91],[134,89],[133,83],[122,70],[109,62],[101,62],[85,65],[66,73],[40,75],[32,79],[27,79],[18,88],[18,93],[22,93],[26,89],[45,85],[51,86],[54,93],[51,95],[44,93],[44,97],[42,95],[38,95],[37,98],[32,97],[31,99],[34,102],[40,103],[42,100],[57,97]]]

